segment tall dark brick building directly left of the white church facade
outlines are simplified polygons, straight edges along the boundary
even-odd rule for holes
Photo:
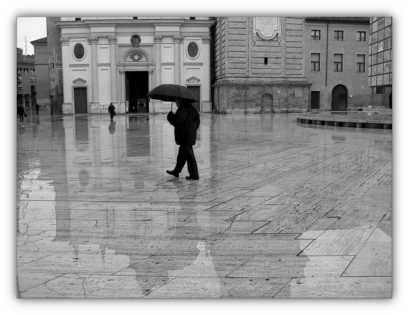
[[[47,17],[47,37],[31,42],[37,55],[37,103],[53,114],[62,114],[64,101],[61,29],[55,23],[60,20],[60,17]]]

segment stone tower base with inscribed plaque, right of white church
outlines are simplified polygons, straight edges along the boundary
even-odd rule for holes
[[[216,112],[306,112],[301,17],[215,17]]]

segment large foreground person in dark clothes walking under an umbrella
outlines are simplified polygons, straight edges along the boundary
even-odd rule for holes
[[[193,153],[193,145],[196,144],[197,130],[200,125],[199,113],[190,102],[182,98],[176,98],[175,102],[178,110],[175,114],[169,112],[167,118],[169,123],[175,126],[175,141],[180,147],[175,169],[166,172],[179,177],[187,162],[189,176],[186,176],[186,179],[199,179],[198,165]]]

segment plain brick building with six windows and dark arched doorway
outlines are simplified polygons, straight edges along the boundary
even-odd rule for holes
[[[309,110],[356,110],[371,105],[368,17],[306,17],[305,72]]]

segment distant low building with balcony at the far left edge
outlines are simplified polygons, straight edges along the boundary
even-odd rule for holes
[[[34,55],[25,56],[17,48],[17,105],[34,107],[36,104],[36,67]]]

